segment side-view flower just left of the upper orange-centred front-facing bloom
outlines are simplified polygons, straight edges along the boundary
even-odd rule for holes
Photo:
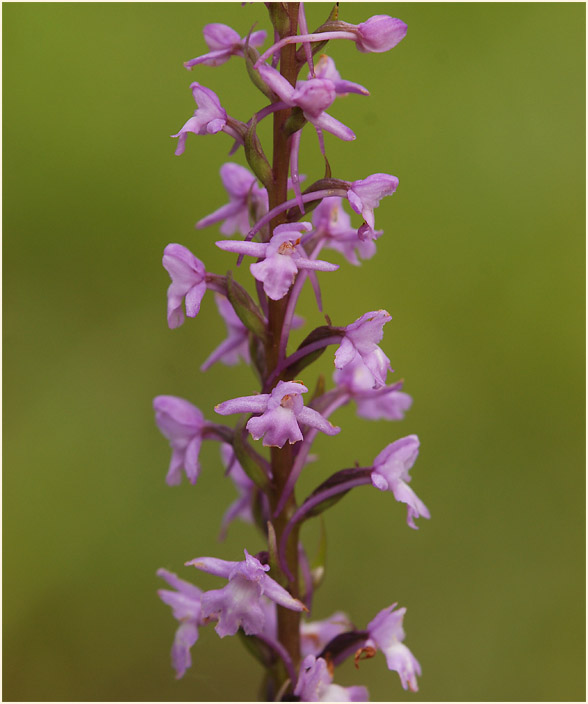
[[[181,244],[168,244],[163,250],[163,267],[172,280],[167,289],[167,324],[179,328],[184,322],[182,303],[188,318],[195,318],[206,292],[204,264]]]

